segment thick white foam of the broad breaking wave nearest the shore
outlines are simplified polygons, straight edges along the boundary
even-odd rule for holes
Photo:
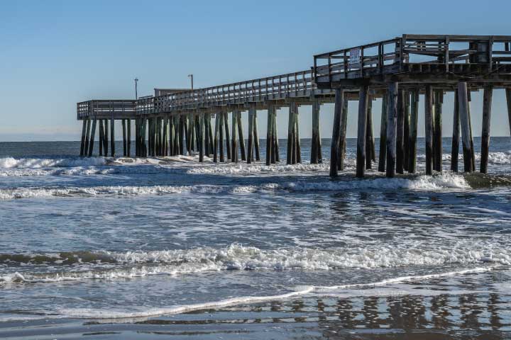
[[[89,257],[92,254],[88,255]],[[331,271],[351,268],[397,268],[407,266],[510,266],[511,252],[504,246],[483,242],[456,242],[449,245],[410,244],[350,246],[335,249],[259,249],[231,244],[223,249],[200,247],[167,251],[104,251],[97,258],[109,259],[106,266],[86,263],[85,271],[56,273],[9,273],[0,283],[60,282],[65,280],[122,279],[152,275],[175,275],[202,271]],[[55,259],[58,259],[57,257]],[[115,263],[115,265],[113,264]],[[79,269],[79,268],[77,268]],[[337,286],[335,286],[337,287]],[[346,288],[353,288],[348,287]]]

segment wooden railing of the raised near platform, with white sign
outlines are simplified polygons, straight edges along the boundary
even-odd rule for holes
[[[498,72],[511,63],[510,35],[402,35],[314,56],[314,82],[406,72],[407,65],[478,64]]]

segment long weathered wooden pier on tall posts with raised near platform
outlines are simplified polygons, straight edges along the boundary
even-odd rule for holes
[[[265,110],[268,114],[265,161],[270,165],[280,162],[277,110],[288,107],[286,163],[296,164],[302,162],[300,106],[309,105],[310,162],[317,164],[322,162],[320,108],[323,103],[334,103],[330,176],[337,176],[344,169],[346,157],[348,101],[358,101],[356,176],[363,177],[377,159],[372,107],[375,98],[382,98],[378,171],[393,177],[417,169],[417,122],[422,95],[426,173],[433,174],[442,170],[442,105],[444,95],[451,91],[455,94],[451,170],[458,171],[461,137],[464,170],[475,171],[470,102],[471,92],[482,90],[480,172],[485,173],[493,89],[505,89],[511,123],[510,45],[511,35],[402,35],[315,55],[314,67],[301,72],[204,89],[155,89],[155,96],[138,100],[84,101],[77,103],[77,118],[83,120],[80,154],[92,156],[94,136],[99,129],[99,154],[114,157],[114,124],[120,120],[123,156],[131,156],[133,120],[136,157],[199,152],[199,162],[212,157],[214,162],[241,159],[251,163],[260,160],[257,114]],[[248,111],[248,136],[243,136],[243,111]]]

